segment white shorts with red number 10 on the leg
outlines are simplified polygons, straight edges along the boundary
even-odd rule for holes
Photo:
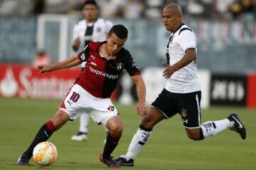
[[[106,125],[107,120],[118,115],[110,98],[92,96],[78,84],[71,87],[59,108],[68,113],[70,120],[75,120],[82,113],[87,113],[92,120],[103,125]]]

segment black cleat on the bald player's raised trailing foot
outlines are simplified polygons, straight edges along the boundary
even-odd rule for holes
[[[230,128],[230,130],[234,130],[235,132],[238,132],[242,140],[245,140],[246,138],[245,125],[242,125],[242,122],[238,118],[238,115],[235,113],[232,113],[228,116],[228,120],[234,122],[234,126],[233,128]]]

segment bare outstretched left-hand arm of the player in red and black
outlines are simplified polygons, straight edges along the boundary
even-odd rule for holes
[[[39,65],[38,72],[44,73],[44,72],[51,72],[53,70],[58,70],[58,69],[68,69],[68,68],[74,67],[78,64],[80,64],[79,58],[77,56],[73,56],[67,60],[62,61],[62,62],[56,62],[55,64]]]

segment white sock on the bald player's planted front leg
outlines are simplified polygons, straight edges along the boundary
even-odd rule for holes
[[[139,128],[135,135],[132,137],[132,142],[129,145],[128,152],[125,155],[126,159],[135,159],[137,154],[142,149],[142,146],[149,140],[151,131],[142,130]]]

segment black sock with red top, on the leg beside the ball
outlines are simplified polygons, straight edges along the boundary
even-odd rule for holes
[[[26,154],[28,158],[31,158],[33,154],[33,148],[36,147],[38,143],[48,140],[55,130],[56,128],[51,121],[48,121],[46,124],[44,124],[40,130],[38,130],[38,133],[33,139],[33,142],[31,142],[31,145],[29,145],[24,154]]]

